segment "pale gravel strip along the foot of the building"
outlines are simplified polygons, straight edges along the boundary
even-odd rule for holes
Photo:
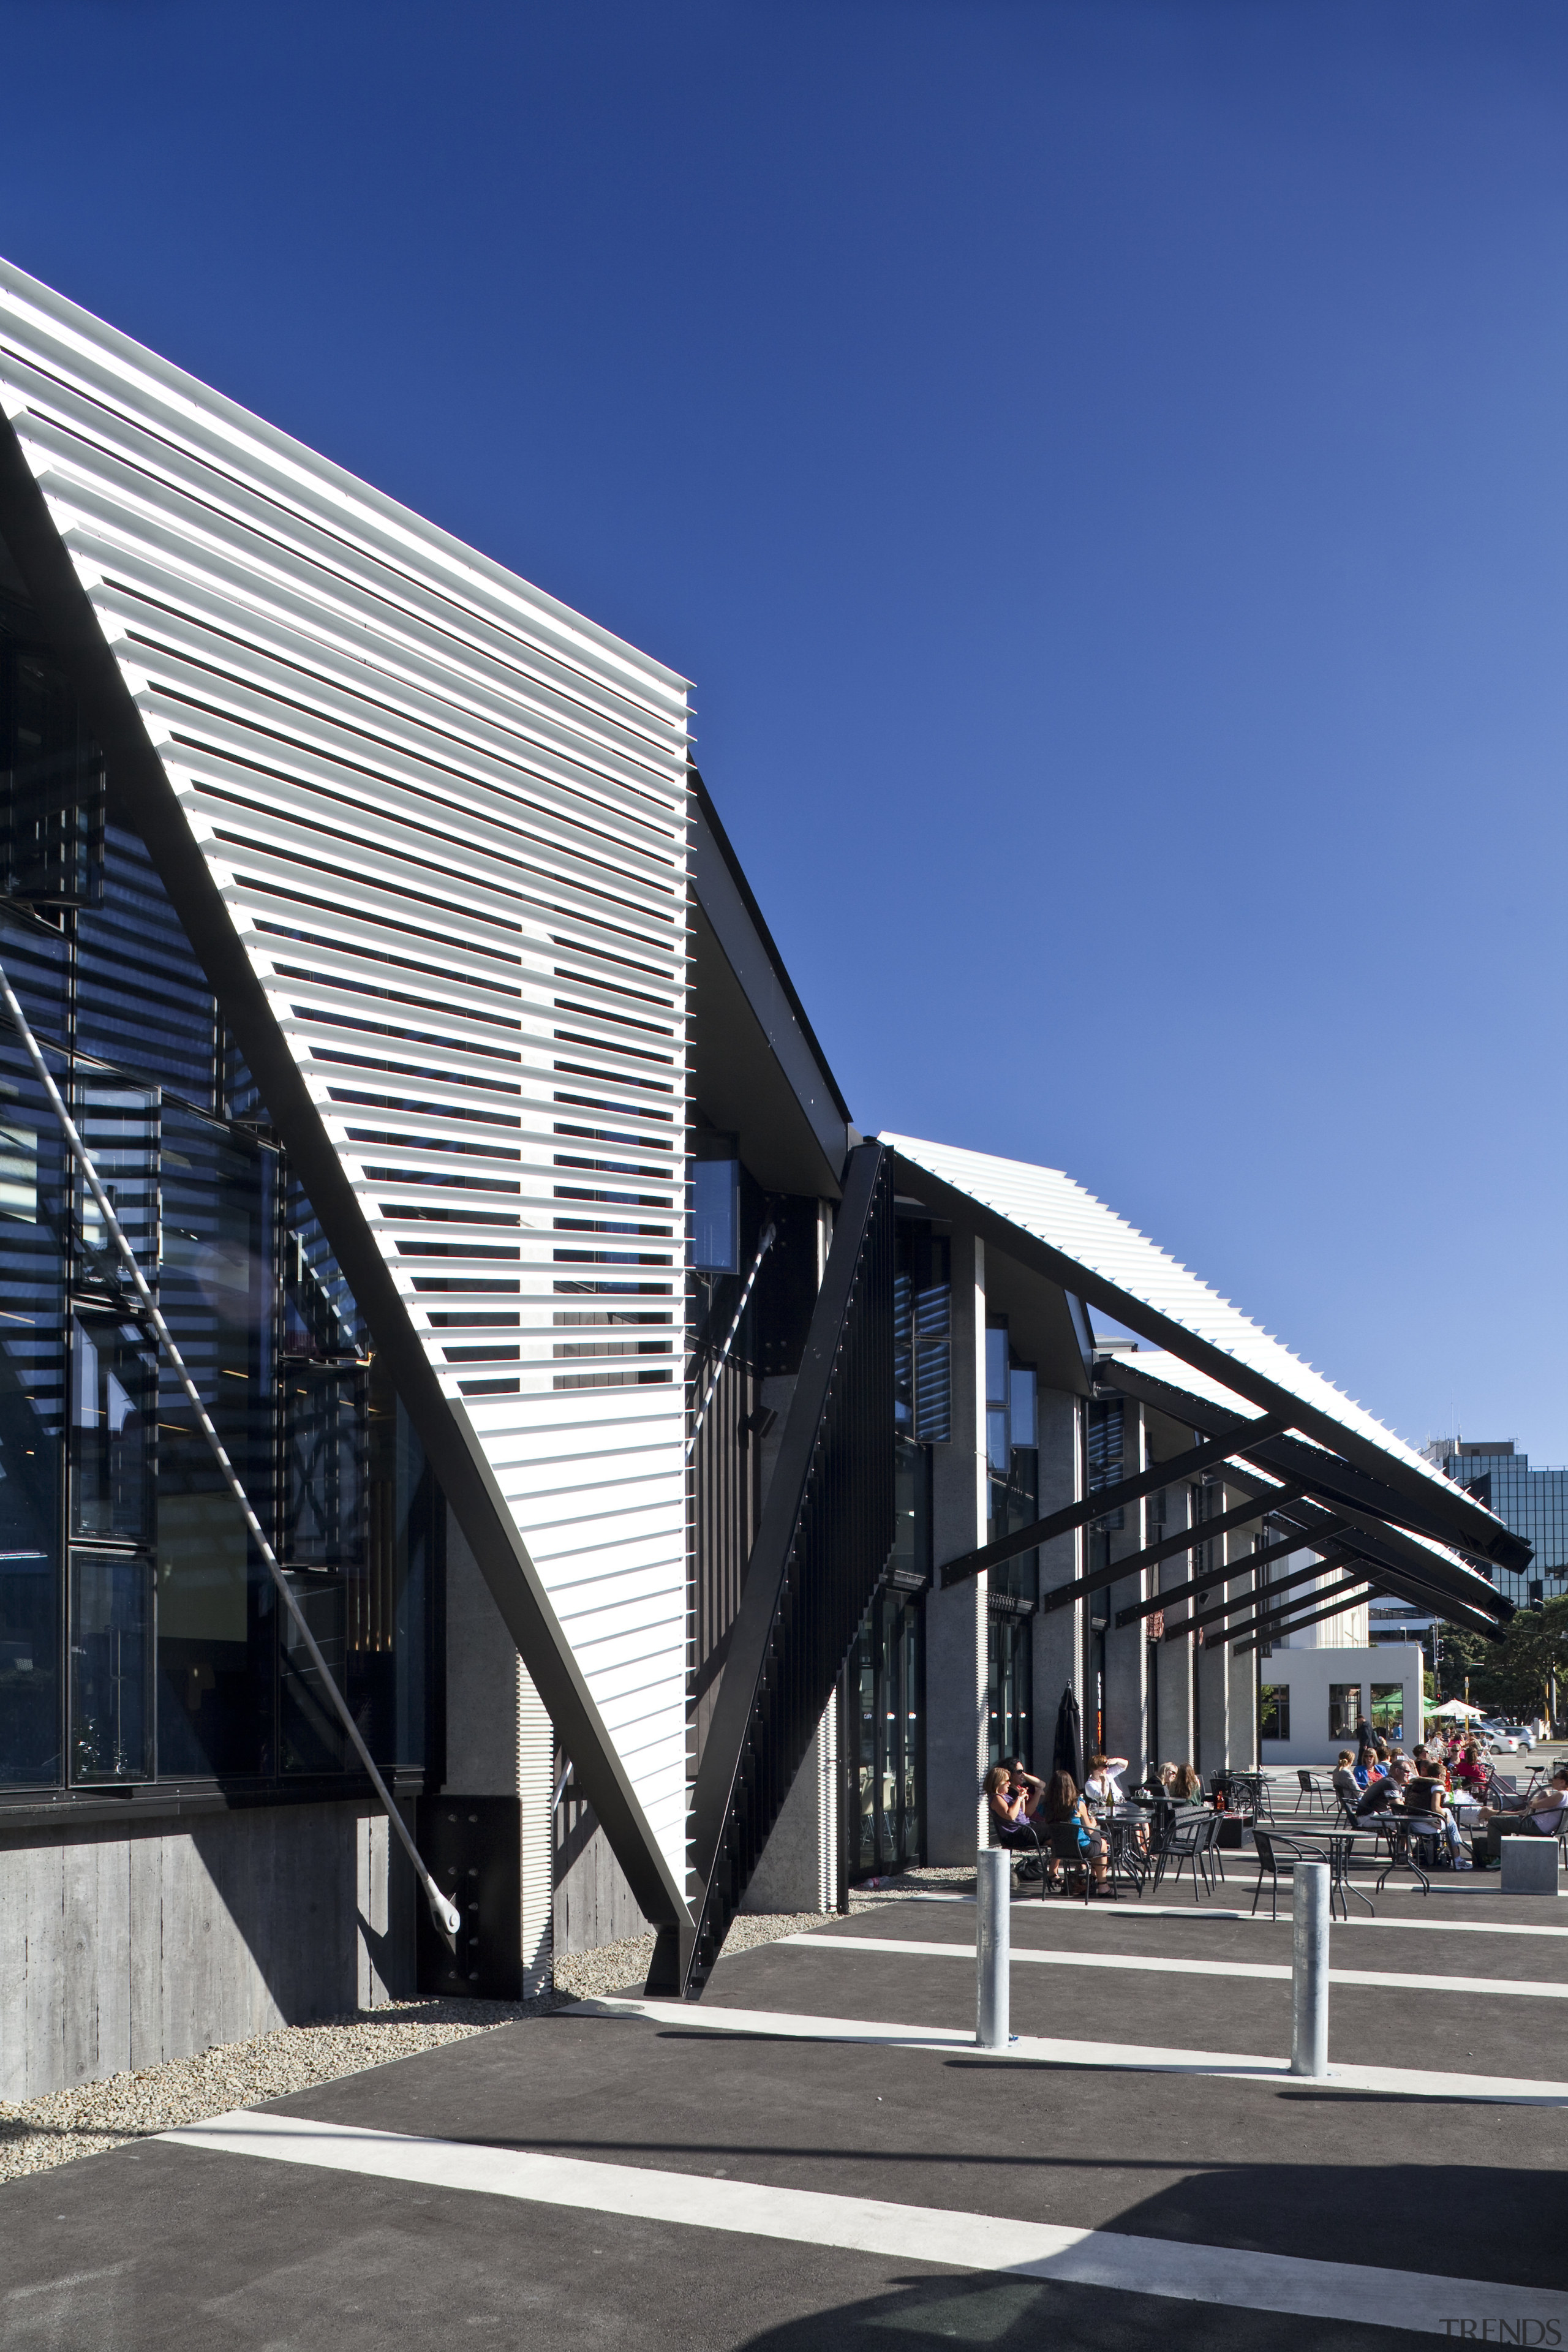
[[[745,1912],[733,1922],[724,1950],[748,1952],[799,1929],[820,1926],[818,1912]],[[110,2074],[75,2091],[52,2091],[21,2105],[0,2100],[0,2180],[42,2173],[52,2164],[96,2157],[122,2140],[143,2140],[174,2124],[200,2124],[233,2107],[259,2107],[287,2091],[362,2074],[367,2067],[411,2058],[416,2051],[463,2042],[468,2034],[548,2016],[567,2002],[607,1992],[642,1992],[654,1959],[654,1936],[628,1936],[597,1952],[574,1952],[555,1962],[555,1992],[534,2002],[390,2002],[350,2018],[320,2025],[282,2025],[252,2042],[223,2042],[195,2058]]]

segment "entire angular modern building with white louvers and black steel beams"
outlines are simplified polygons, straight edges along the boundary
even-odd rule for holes
[[[0,1033],[0,2098],[644,1922],[698,1994],[969,1860],[1067,1689],[1211,1776],[1354,1679],[1298,1632],[1507,1618],[1528,1545],[1070,1176],[858,1134],[675,670],[2,266],[0,405],[0,964],[463,1917]]]

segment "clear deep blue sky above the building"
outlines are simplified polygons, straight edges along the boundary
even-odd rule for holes
[[[696,680],[865,1129],[1568,1461],[1561,7],[0,0],[0,252]]]

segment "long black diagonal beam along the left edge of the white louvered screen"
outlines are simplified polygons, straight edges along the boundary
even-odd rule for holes
[[[468,1409],[442,1395],[393,1270],[381,1256],[364,1209],[331,1143],[261,981],[235,931],[230,910],[190,830],[165,764],[103,637],[99,616],[75,576],[66,546],[21,452],[0,419],[0,529],[38,607],[49,644],[75,687],[108,764],[110,807],[141,835],[186,938],[223,1007],[240,1051],[261,1089],[268,1117],[306,1188],[327,1244],[343,1268],[371,1338],[437,1484],[489,1585],[501,1621],[571,1757],[581,1795],[592,1804],[609,1846],[630,1879],[646,1919],[689,1926],[686,1898],[654,1837],[630,1776],[562,1635],[550,1595],[529,1557],[512,1508],[501,1494]]]

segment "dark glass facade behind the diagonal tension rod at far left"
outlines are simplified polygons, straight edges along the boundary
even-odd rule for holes
[[[442,1508],[31,609],[0,593],[0,960],[383,1766],[425,1766]],[[0,1788],[343,1738],[21,1042],[0,1030]]]

